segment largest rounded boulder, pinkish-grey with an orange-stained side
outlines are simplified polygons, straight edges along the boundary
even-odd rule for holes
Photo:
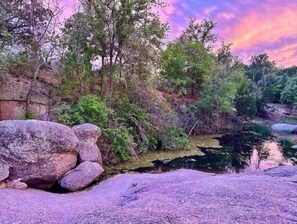
[[[78,139],[67,126],[36,120],[0,122],[0,165],[11,180],[47,189],[77,162]]]

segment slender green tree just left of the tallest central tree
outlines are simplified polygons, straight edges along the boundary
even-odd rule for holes
[[[87,93],[85,85],[92,72],[91,62],[94,55],[90,41],[92,34],[88,17],[83,13],[74,14],[65,21],[62,33],[64,54],[61,57],[60,73],[66,81],[64,83],[66,85],[72,86],[71,82],[76,83],[78,80],[79,96],[82,97]],[[69,90],[73,91],[72,88]]]

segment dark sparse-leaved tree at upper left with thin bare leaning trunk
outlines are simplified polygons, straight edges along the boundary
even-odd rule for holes
[[[12,0],[0,2],[0,40],[22,52],[32,67],[32,82],[26,97],[26,112],[30,96],[42,66],[53,57],[56,24],[61,9],[58,2],[42,0]],[[7,41],[9,37],[9,41]]]

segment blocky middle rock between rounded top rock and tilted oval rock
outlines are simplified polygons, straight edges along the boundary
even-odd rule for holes
[[[96,144],[81,142],[79,143],[79,161],[82,162],[97,162],[101,166],[102,157],[100,150]]]

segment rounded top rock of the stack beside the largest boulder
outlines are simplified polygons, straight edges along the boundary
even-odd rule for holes
[[[82,124],[73,127],[76,137],[83,142],[96,143],[101,135],[101,130],[93,124]]]

